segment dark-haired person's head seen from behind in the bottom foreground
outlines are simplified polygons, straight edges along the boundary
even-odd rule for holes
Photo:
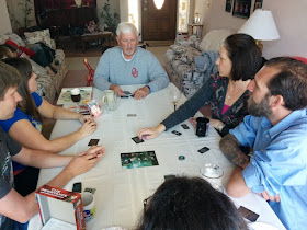
[[[232,202],[200,177],[174,177],[144,200],[137,230],[248,229]]]

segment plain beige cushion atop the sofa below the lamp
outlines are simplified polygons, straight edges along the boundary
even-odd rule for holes
[[[200,44],[200,49],[202,51],[219,51],[220,46],[223,45],[226,37],[234,34],[231,30],[213,30],[208,32]]]

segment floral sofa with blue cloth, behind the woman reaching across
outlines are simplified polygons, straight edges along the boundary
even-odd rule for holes
[[[184,95],[190,99],[212,72],[217,72],[215,65],[218,51],[226,37],[234,34],[230,30],[213,30],[202,41],[196,36],[175,39],[167,50],[167,72]]]

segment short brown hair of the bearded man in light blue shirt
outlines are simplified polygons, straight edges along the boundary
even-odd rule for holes
[[[264,64],[280,70],[268,83],[272,95],[282,95],[291,111],[307,107],[307,65],[291,57],[277,57]]]

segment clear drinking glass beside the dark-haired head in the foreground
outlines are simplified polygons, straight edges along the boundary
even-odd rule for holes
[[[218,166],[217,164],[208,163],[202,166],[200,169],[200,172],[202,177],[209,182],[213,188],[223,193],[223,188],[220,187],[220,185],[224,171],[220,166]]]

